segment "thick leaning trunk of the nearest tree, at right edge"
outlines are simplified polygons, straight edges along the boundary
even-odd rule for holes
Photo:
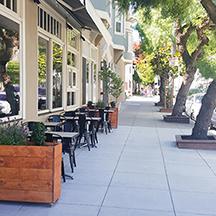
[[[207,93],[202,99],[202,106],[191,135],[194,139],[207,139],[208,127],[211,123],[211,117],[215,107],[216,79],[212,81],[208,87]]]

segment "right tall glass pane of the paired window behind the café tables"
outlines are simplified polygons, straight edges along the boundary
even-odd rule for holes
[[[62,47],[53,43],[53,108],[62,107]]]

